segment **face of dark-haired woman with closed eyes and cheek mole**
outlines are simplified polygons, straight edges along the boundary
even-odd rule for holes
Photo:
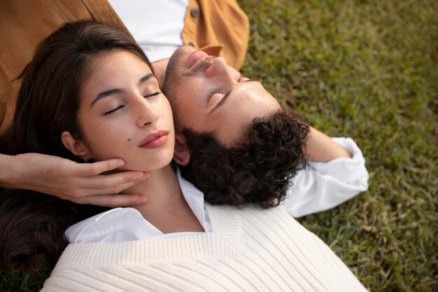
[[[85,158],[122,158],[124,169],[143,172],[168,165],[174,120],[148,64],[115,50],[94,57],[88,68],[78,112]]]

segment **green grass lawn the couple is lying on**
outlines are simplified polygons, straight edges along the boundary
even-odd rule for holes
[[[239,4],[243,74],[367,159],[367,192],[300,221],[370,291],[438,291],[438,2]],[[0,291],[38,291],[47,275],[0,274]]]

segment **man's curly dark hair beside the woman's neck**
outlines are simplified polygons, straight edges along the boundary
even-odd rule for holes
[[[184,129],[190,162],[183,176],[210,204],[257,204],[263,209],[282,202],[291,179],[305,166],[309,125],[296,113],[278,111],[255,118],[242,141],[225,148],[212,135]]]

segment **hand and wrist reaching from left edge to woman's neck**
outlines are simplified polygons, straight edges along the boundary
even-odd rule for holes
[[[108,207],[143,204],[147,200],[145,195],[119,193],[145,181],[150,173],[105,174],[123,165],[125,162],[120,159],[76,163],[40,153],[0,154],[0,187],[34,190],[79,204]]]

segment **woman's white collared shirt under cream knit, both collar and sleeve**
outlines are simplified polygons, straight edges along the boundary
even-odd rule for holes
[[[332,138],[352,155],[330,162],[309,162],[306,169],[295,176],[288,190],[283,208],[294,217],[313,214],[336,207],[368,188],[368,172],[365,158],[351,138]],[[186,181],[178,170],[178,180],[185,200],[206,232],[211,232],[204,194]],[[111,209],[72,225],[66,230],[71,243],[128,242],[142,239],[158,239],[192,235],[197,232],[164,234],[146,221],[133,208]]]

